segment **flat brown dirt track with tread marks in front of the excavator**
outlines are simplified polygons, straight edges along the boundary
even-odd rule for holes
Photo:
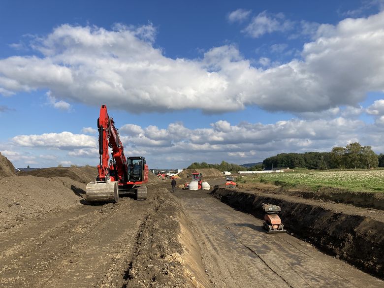
[[[20,227],[0,235],[0,286],[121,287],[135,233],[152,202],[123,198],[80,207],[25,233]]]

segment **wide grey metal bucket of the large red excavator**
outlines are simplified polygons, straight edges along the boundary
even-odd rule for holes
[[[118,202],[119,184],[117,181],[90,182],[85,194],[87,202]]]

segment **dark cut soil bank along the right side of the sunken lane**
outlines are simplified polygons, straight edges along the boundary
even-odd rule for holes
[[[219,187],[211,194],[233,208],[260,219],[263,218],[262,203],[279,205],[282,208],[280,216],[289,233],[328,255],[384,278],[384,223],[380,219],[346,213],[325,202],[291,196]]]

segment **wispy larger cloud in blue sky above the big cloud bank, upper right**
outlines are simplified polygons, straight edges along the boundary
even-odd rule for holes
[[[267,11],[259,13],[243,30],[247,35],[258,38],[266,33],[284,32],[293,28],[293,23],[283,13],[268,14]]]

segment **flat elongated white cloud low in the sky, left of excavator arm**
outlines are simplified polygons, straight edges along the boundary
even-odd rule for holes
[[[43,147],[47,149],[72,150],[75,148],[94,148],[96,138],[71,132],[44,133],[41,135],[19,135],[12,138],[13,143],[24,147]]]

